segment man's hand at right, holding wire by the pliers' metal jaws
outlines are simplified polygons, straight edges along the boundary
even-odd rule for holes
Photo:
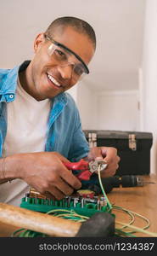
[[[86,160],[104,160],[108,165],[101,171],[101,177],[114,176],[118,169],[120,157],[117,155],[117,149],[111,147],[93,147],[91,148]]]

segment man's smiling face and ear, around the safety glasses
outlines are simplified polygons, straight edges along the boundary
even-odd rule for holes
[[[53,34],[53,40],[72,50],[81,60],[88,64],[94,49],[93,43],[85,34],[76,32],[73,28],[59,29]],[[29,90],[36,100],[52,98],[70,89],[78,80],[71,77],[73,65],[59,65],[53,56],[48,55],[51,42],[40,34],[35,41],[35,56],[28,67]],[[72,58],[72,61],[73,62]],[[75,60],[78,61],[78,60]],[[78,61],[79,62],[79,61]]]

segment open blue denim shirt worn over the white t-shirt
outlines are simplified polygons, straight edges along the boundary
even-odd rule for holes
[[[16,98],[18,73],[28,66],[25,61],[13,69],[0,69],[0,156],[7,133],[7,103]],[[87,139],[81,130],[81,119],[76,103],[68,93],[61,93],[52,100],[48,119],[48,138],[45,151],[57,151],[70,161],[86,157]],[[18,152],[17,152],[18,153]]]

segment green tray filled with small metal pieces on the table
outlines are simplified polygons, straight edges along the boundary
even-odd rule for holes
[[[83,193],[83,195],[79,193]],[[87,193],[86,193],[87,192]],[[22,198],[20,207],[27,208],[36,212],[49,212],[54,209],[73,210],[78,214],[91,217],[96,212],[110,212],[108,203],[104,196],[95,196],[93,191],[80,190],[76,195],[64,196],[60,201],[46,198],[31,189]]]

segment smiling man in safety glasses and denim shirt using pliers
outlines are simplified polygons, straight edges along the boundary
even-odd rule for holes
[[[34,42],[35,55],[0,70],[0,201],[20,205],[29,186],[60,200],[81,188],[64,161],[106,160],[115,174],[115,148],[89,150],[76,104],[64,93],[84,74],[96,48],[93,28],[74,17],[54,20]],[[11,182],[8,182],[11,181]]]

